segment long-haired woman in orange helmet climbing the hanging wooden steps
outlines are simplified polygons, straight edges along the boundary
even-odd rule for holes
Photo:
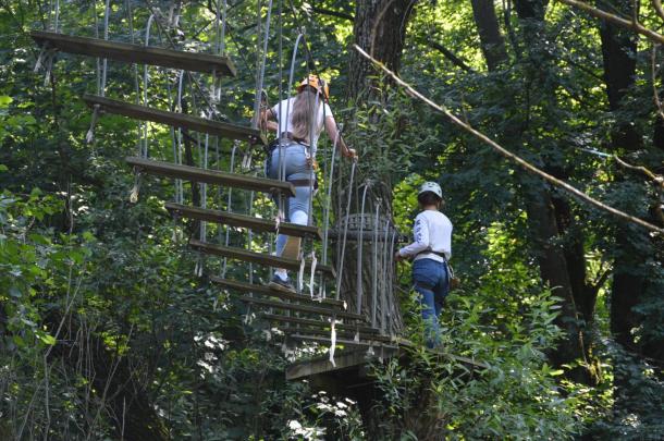
[[[278,142],[271,144],[267,159],[267,174],[271,179],[284,179],[295,186],[295,197],[290,197],[286,221],[306,225],[309,222],[309,206],[316,179],[316,145],[323,126],[340,152],[356,159],[357,152],[348,148],[339,136],[336,122],[328,105],[330,89],[317,75],[309,75],[297,87],[295,97],[284,99],[271,109],[261,112],[263,128],[278,132]],[[283,159],[281,155],[283,154]],[[276,256],[286,248],[288,236],[276,237]],[[294,292],[285,269],[279,268],[270,286],[275,290]]]

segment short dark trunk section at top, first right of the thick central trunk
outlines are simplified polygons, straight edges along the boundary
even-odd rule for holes
[[[507,60],[507,51],[495,16],[493,0],[471,0],[470,3],[487,68],[489,72],[496,71],[500,64]]]

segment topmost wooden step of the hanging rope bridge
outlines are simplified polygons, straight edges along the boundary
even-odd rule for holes
[[[228,57],[145,47],[100,38],[76,37],[41,30],[34,30],[30,33],[30,36],[39,46],[47,49],[57,49],[62,52],[107,58],[128,63],[182,69],[190,72],[237,75],[235,65],[233,65],[233,62]]]

